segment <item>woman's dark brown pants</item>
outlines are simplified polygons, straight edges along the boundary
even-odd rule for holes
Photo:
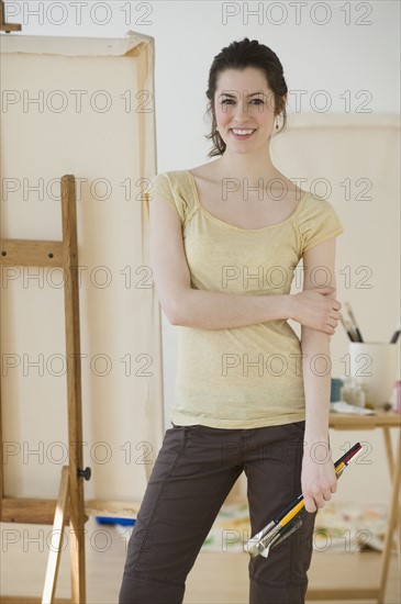
[[[167,429],[129,541],[119,604],[182,603],[187,575],[243,470],[252,526],[244,544],[287,507],[302,492],[304,426]],[[304,602],[315,515],[303,508],[302,526],[268,558],[244,553],[250,604]]]

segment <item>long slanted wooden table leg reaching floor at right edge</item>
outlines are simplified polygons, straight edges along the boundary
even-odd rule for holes
[[[393,541],[393,532],[397,527],[399,511],[399,491],[401,479],[401,433],[398,437],[398,447],[396,456],[396,465],[392,473],[392,492],[391,503],[389,508],[388,526],[385,539],[385,549],[381,556],[381,569],[380,569],[380,589],[379,589],[379,603],[385,601],[387,578],[389,574],[391,546]],[[401,525],[401,523],[399,523]],[[400,539],[400,535],[398,537]]]

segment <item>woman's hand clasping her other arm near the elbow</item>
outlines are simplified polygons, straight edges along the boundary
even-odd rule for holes
[[[333,335],[339,321],[341,302],[328,294],[335,290],[332,287],[314,288],[291,294],[292,313],[290,318],[301,325]]]

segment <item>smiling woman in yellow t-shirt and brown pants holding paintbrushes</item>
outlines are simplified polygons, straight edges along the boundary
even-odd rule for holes
[[[249,602],[299,604],[315,513],[336,491],[330,338],[342,307],[334,264],[343,226],[328,201],[271,163],[287,85],[270,48],[248,38],[223,48],[207,97],[209,157],[219,158],[153,179],[152,265],[163,310],[177,326],[178,373],[172,427],[129,543],[120,604],[182,602],[186,578],[242,471],[252,535],[304,495],[301,529],[268,558],[249,559]],[[290,294],[301,258],[303,291]],[[301,340],[289,318],[301,324]]]

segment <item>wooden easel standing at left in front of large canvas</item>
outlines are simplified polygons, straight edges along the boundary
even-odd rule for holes
[[[88,516],[85,515],[83,483],[80,479],[90,479],[90,468],[82,469],[76,182],[74,176],[69,175],[62,178],[62,242],[3,239],[1,241],[0,258],[1,265],[5,267],[62,267],[64,270],[69,466],[63,467],[57,502],[4,497],[0,399],[0,521],[4,523],[53,524],[53,535],[58,534],[58,543],[57,549],[55,544],[52,544],[52,549],[55,551],[49,552],[42,604],[53,602],[85,604],[83,524]],[[62,552],[59,546],[63,544],[67,522],[70,527],[71,601],[54,600]],[[3,604],[22,604],[22,602],[33,603],[38,600],[2,596],[1,602]]]

